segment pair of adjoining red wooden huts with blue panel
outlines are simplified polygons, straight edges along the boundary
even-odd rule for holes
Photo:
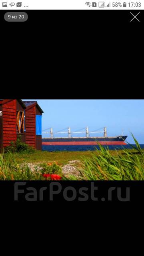
[[[22,100],[0,100],[0,150],[10,146],[10,142],[15,142],[18,136],[21,136],[22,142],[41,150],[42,113],[37,102],[25,104]]]

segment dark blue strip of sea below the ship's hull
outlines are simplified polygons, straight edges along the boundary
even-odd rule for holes
[[[132,146],[136,147],[136,144],[132,144]],[[127,149],[132,149],[131,145],[109,145],[109,146],[104,146],[105,148],[108,147],[109,150],[122,150],[124,148]],[[144,148],[144,144],[140,144],[141,148]],[[91,145],[76,145],[76,146],[47,146],[47,145],[42,145],[42,150],[43,151],[49,151],[49,152],[57,152],[57,151],[87,151],[87,150],[96,150],[96,148],[99,150],[99,146],[91,146]]]

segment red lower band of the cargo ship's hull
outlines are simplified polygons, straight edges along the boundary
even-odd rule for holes
[[[42,145],[56,146],[56,145],[126,145],[124,141],[67,141],[67,142],[42,142]]]

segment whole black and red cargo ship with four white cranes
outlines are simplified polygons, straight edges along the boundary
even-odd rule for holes
[[[48,132],[45,132],[48,133]],[[56,137],[54,138],[54,134],[58,133],[68,133],[68,137]],[[86,133],[86,137],[72,137],[72,134],[75,133]],[[104,133],[103,137],[90,137],[92,133]],[[126,145],[126,138],[128,136],[120,135],[115,137],[108,137],[106,132],[106,127],[104,127],[104,131],[101,132],[89,132],[88,127],[86,128],[86,132],[70,132],[70,127],[68,128],[68,132],[56,132],[53,133],[52,128],[50,128],[50,138],[42,138],[42,145],[47,146],[56,146],[56,145]]]

